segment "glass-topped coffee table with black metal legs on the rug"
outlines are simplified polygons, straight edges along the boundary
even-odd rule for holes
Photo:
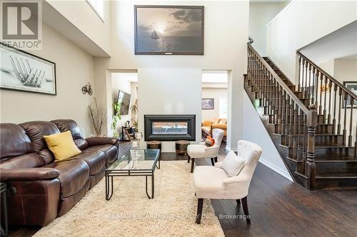
[[[106,169],[106,200],[113,196],[113,177],[144,176],[146,195],[154,199],[154,172],[160,169],[159,149],[130,149]],[[156,165],[159,166],[156,166]],[[151,177],[151,196],[148,192],[148,177]]]

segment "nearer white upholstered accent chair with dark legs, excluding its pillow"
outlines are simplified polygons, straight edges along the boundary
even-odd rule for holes
[[[251,223],[248,213],[247,196],[249,184],[256,164],[261,157],[261,147],[253,142],[238,141],[238,157],[244,159],[244,167],[236,177],[228,177],[221,168],[221,162],[211,166],[198,166],[193,172],[193,183],[198,198],[196,223],[201,223],[203,199],[235,199],[242,204],[247,223]]]

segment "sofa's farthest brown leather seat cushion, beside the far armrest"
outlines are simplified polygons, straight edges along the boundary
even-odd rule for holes
[[[85,149],[73,158],[84,160],[89,166],[90,175],[98,174],[106,165],[106,154],[99,149]]]

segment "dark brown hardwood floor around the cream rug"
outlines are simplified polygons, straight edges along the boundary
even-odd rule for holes
[[[227,154],[223,146],[218,162]],[[122,143],[120,153],[127,149],[129,143]],[[179,159],[187,157],[161,154],[161,160]],[[211,161],[207,159],[203,164],[211,165]],[[251,225],[237,218],[243,215],[243,209],[237,207],[235,200],[211,203],[225,236],[354,237],[357,233],[357,189],[306,191],[260,163],[248,195]],[[32,236],[38,229],[11,228],[9,236]]]

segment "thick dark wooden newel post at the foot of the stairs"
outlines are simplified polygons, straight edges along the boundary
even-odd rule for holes
[[[315,188],[316,164],[315,164],[315,135],[318,122],[316,105],[308,107],[306,125],[308,127],[308,147],[306,159],[306,174],[308,174],[308,190]]]

